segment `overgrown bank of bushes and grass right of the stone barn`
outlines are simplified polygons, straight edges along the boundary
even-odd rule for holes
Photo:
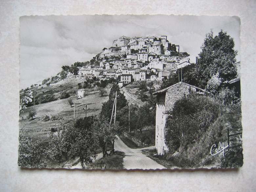
[[[225,156],[210,156],[210,147],[219,141],[227,145],[227,128],[242,132],[241,103],[224,103],[219,96],[191,93],[178,100],[166,122],[167,159],[174,166],[191,168],[242,166],[242,135],[230,140]],[[237,146],[237,147],[233,147]]]

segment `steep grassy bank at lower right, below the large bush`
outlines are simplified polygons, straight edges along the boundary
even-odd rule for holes
[[[191,144],[183,153],[178,152],[173,155],[157,156],[156,150],[148,150],[145,151],[144,154],[168,169],[219,168],[222,162],[224,162],[223,168],[240,167],[243,165],[242,147],[232,148],[232,146],[241,143],[241,135],[236,136],[236,139],[233,138],[235,141],[230,139],[231,148],[225,150],[224,157],[226,160],[223,158],[222,154],[211,156],[210,147],[214,143],[218,144],[219,141],[227,140],[227,125],[229,125],[230,134],[242,132],[241,118],[240,110],[232,109],[225,113],[209,126],[207,131],[202,134],[199,142]]]

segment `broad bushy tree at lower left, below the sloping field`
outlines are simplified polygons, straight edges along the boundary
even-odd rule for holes
[[[56,132],[49,134],[49,154],[59,165],[70,158],[79,157],[82,168],[96,158],[97,135],[93,116],[77,119],[74,126],[60,123]]]

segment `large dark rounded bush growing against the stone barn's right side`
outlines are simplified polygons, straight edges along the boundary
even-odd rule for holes
[[[179,148],[186,150],[221,113],[221,104],[212,97],[191,93],[176,101],[172,117],[166,122],[165,142],[170,153]]]

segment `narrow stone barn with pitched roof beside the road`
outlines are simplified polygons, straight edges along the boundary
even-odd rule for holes
[[[165,144],[165,123],[169,111],[172,111],[174,103],[181,99],[184,95],[189,94],[189,90],[198,94],[204,94],[205,90],[183,82],[176,83],[170,87],[162,89],[154,93],[157,96],[156,109],[156,149],[158,155],[164,155],[168,151]]]

